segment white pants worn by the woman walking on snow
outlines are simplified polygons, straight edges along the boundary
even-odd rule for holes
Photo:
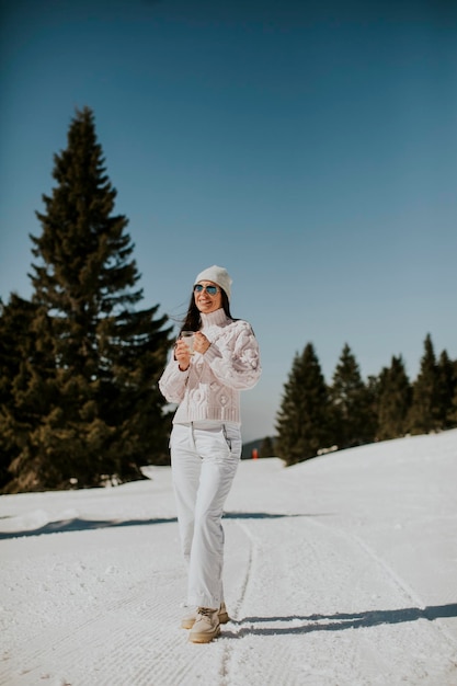
[[[188,562],[187,603],[219,607],[224,601],[224,504],[241,457],[236,424],[174,424],[171,468],[184,559]]]

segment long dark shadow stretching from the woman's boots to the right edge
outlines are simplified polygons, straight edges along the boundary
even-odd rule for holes
[[[364,613],[336,613],[334,615],[290,615],[288,617],[244,617],[232,620],[235,631],[224,631],[222,638],[239,639],[244,636],[297,636],[312,631],[343,631],[344,629],[361,629],[378,625],[401,624],[426,619],[434,621],[438,618],[457,617],[457,603],[436,605],[420,609],[405,607],[401,609],[367,610]],[[279,626],[262,627],[263,624]],[[281,626],[283,625],[283,626]]]

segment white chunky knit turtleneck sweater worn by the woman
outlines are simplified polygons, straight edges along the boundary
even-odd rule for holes
[[[247,321],[232,321],[224,309],[202,313],[201,331],[210,341],[181,371],[172,353],[159,388],[179,403],[174,423],[218,420],[240,424],[240,390],[252,388],[261,374],[259,345]]]

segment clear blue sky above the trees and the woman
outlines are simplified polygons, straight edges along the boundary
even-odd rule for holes
[[[76,107],[95,115],[141,307],[180,317],[233,277],[272,435],[294,355],[366,378],[426,333],[457,357],[457,13],[446,0],[0,0],[0,296],[31,295],[28,233]]]

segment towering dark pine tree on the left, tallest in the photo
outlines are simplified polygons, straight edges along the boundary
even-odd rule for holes
[[[138,478],[139,466],[165,450],[157,379],[170,329],[165,317],[155,319],[158,306],[135,309],[142,291],[128,220],[113,214],[116,191],[91,110],[77,112],[68,146],[54,161],[57,185],[36,213],[42,235],[31,236],[38,260],[33,329],[53,367],[46,359],[30,370],[24,402],[46,393],[12,464],[16,490]]]

